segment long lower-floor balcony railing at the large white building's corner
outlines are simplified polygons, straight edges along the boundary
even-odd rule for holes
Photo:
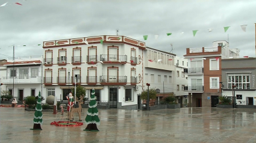
[[[107,76],[102,75],[99,77],[101,83],[127,83],[127,76]]]

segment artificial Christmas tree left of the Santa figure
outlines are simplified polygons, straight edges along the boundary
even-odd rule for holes
[[[41,124],[43,124],[43,114],[42,114],[42,102],[41,93],[39,92],[39,98],[37,99],[36,112],[34,114],[34,126],[31,130],[42,130]]]

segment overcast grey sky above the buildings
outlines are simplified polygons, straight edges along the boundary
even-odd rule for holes
[[[148,35],[146,46],[159,50],[170,51],[172,43],[178,56],[189,47],[228,41],[229,35],[230,48],[240,48],[241,56],[255,56],[255,0],[22,0],[22,6],[14,4],[19,1],[0,0],[0,5],[8,2],[0,7],[0,59],[12,56],[9,45],[30,45],[16,47],[15,56],[41,55],[43,48],[33,45],[115,35],[116,29],[119,35],[140,41]],[[240,28],[243,24],[248,25],[246,32]],[[231,26],[226,33],[224,26]],[[193,30],[199,30],[195,37]],[[166,36],[169,32],[172,35]]]

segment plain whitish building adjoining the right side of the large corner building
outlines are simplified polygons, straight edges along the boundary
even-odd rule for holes
[[[155,104],[159,104],[161,99],[173,93],[176,54],[146,47],[143,53],[144,56],[143,66],[145,68],[143,72],[145,74],[143,76],[143,89],[147,89],[146,83],[151,84],[150,88],[155,88],[157,91],[157,101],[155,101]],[[146,101],[143,101],[143,103],[146,103]]]

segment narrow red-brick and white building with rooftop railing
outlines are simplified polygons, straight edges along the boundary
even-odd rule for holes
[[[239,56],[238,49],[229,49],[226,41],[214,41],[213,47],[187,48],[188,84],[190,107],[216,107],[221,96],[222,57]]]

